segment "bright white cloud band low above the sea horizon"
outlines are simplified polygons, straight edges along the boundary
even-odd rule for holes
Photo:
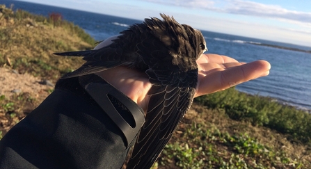
[[[276,42],[287,42],[308,47],[310,47],[311,44],[311,32],[300,26],[294,26],[293,29],[286,26],[279,26],[278,24],[271,25],[262,22],[248,22],[243,19],[216,18],[200,15],[174,16],[178,22],[184,22],[196,29],[231,35],[241,35]],[[208,22],[202,24],[202,20]]]

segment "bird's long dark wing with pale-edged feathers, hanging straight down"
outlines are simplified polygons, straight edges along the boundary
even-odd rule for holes
[[[127,168],[152,166],[170,140],[177,124],[189,110],[196,90],[198,70],[190,72],[148,70],[147,74],[155,85],[148,92],[150,102],[145,124],[136,140]],[[164,86],[159,82],[170,85]]]

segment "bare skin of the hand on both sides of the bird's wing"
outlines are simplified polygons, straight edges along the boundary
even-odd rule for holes
[[[264,77],[270,70],[270,64],[266,61],[239,63],[234,58],[217,54],[203,54],[197,63],[199,76],[195,97]],[[147,74],[119,66],[99,72],[97,75],[109,81],[146,110],[149,101],[147,92],[152,86]]]

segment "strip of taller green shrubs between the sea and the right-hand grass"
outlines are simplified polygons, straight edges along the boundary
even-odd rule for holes
[[[303,143],[311,141],[311,115],[292,106],[283,106],[269,97],[247,95],[234,88],[198,97],[196,102],[209,108],[221,108],[234,120],[264,126]]]

